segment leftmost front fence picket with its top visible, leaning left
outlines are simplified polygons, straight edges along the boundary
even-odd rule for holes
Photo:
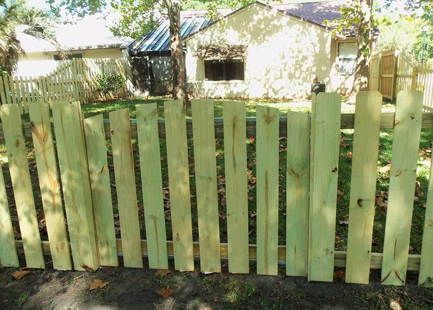
[[[45,268],[20,109],[16,104],[2,105],[0,116],[27,267]]]

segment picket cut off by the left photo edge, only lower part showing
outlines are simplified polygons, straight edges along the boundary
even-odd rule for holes
[[[14,229],[9,213],[3,170],[0,167],[0,262],[3,267],[18,267],[17,248],[15,246]]]

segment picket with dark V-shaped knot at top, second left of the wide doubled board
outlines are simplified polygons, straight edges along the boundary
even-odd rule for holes
[[[257,274],[278,274],[279,110],[257,105]]]

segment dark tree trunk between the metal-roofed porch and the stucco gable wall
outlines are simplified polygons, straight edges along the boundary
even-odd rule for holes
[[[173,99],[186,99],[186,68],[180,36],[180,0],[167,0],[173,63]]]

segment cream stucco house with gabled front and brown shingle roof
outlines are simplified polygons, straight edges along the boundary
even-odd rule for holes
[[[206,20],[205,11],[182,12],[188,84],[201,97],[288,98],[309,96],[317,78],[327,91],[348,92],[357,52],[354,31],[333,36],[325,25],[325,20],[339,18],[338,8],[345,5],[341,0],[281,5],[255,2],[234,11],[219,11],[215,22]],[[143,37],[134,55],[158,55],[170,63],[169,44],[161,50],[162,33],[157,29]],[[150,62],[148,69],[152,65]],[[153,72],[152,78],[162,76]]]

